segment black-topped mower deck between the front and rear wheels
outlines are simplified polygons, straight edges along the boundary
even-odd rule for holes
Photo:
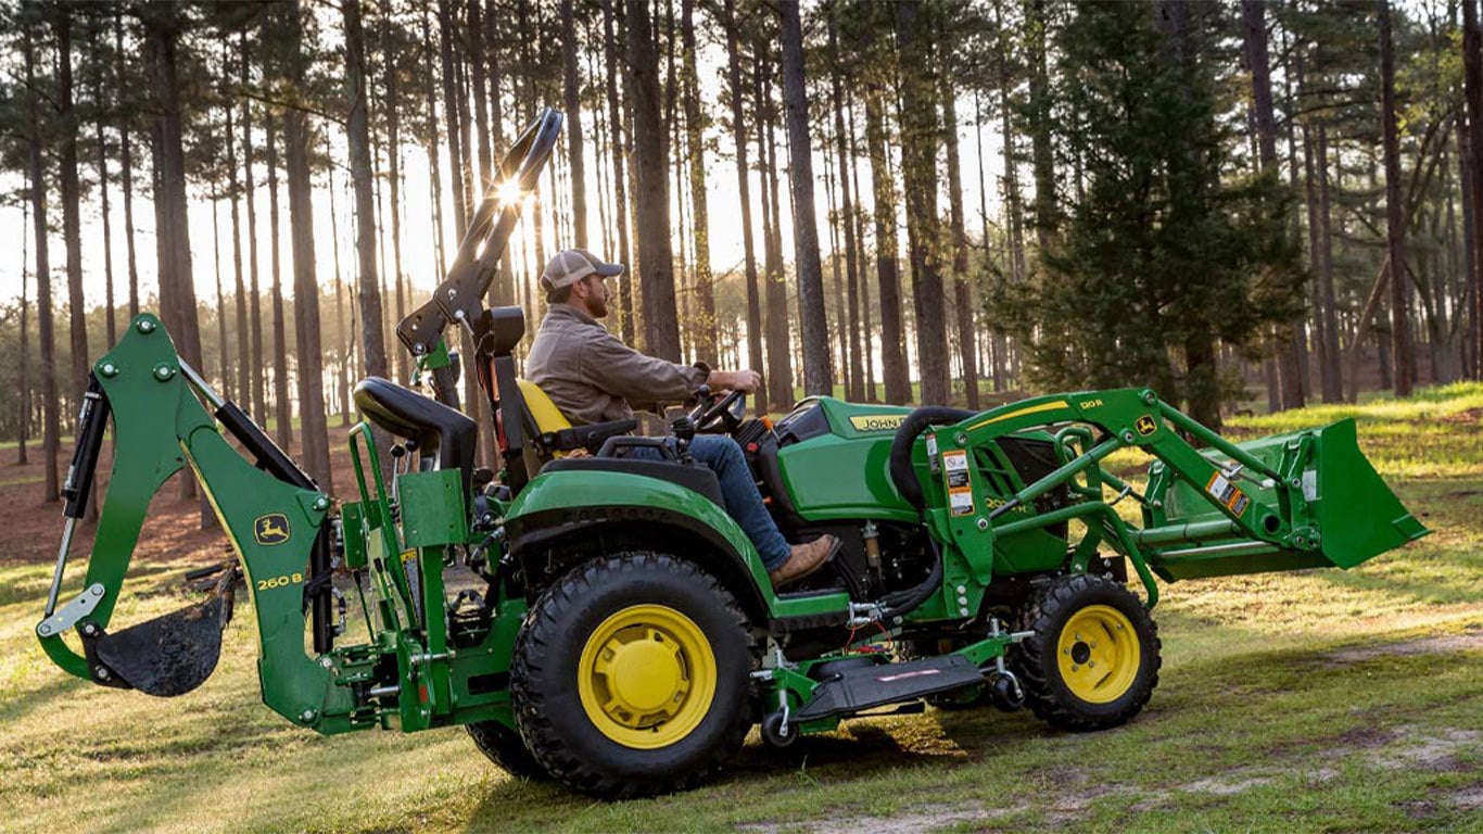
[[[814,697],[793,714],[793,720],[847,715],[976,683],[983,683],[983,671],[961,654],[848,669],[836,680],[820,684]]]

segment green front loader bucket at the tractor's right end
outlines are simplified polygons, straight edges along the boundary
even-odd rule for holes
[[[1289,512],[1272,481],[1250,469],[1210,484],[1176,481],[1163,497],[1164,521],[1140,536],[1145,543],[1166,545],[1149,554],[1149,564],[1166,579],[1351,568],[1430,533],[1401,506],[1360,451],[1352,418],[1234,445],[1286,479],[1296,478],[1301,500]],[[1219,450],[1201,454],[1222,467],[1231,464]],[[1258,518],[1269,525],[1266,530],[1274,536],[1290,530],[1293,546],[1237,537],[1234,527],[1212,505],[1213,496],[1228,505],[1253,502]],[[1176,537],[1173,531],[1183,536]],[[1317,540],[1315,549],[1312,540]]]

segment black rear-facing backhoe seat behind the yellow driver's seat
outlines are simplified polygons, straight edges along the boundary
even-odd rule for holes
[[[417,441],[424,457],[436,450],[436,467],[457,467],[463,473],[464,496],[469,496],[479,433],[473,420],[381,377],[360,380],[354,399],[366,420],[399,438]]]

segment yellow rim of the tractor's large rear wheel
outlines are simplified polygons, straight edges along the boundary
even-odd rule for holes
[[[657,749],[688,736],[716,696],[716,656],[700,626],[667,605],[630,605],[587,637],[577,695],[604,736]]]

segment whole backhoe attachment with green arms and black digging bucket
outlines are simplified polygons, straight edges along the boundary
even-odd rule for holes
[[[59,605],[73,534],[89,506],[110,418],[113,473],[87,573],[76,597]],[[227,442],[218,421],[255,463]],[[165,328],[150,315],[136,318],[117,347],[92,368],[64,487],[67,524],[36,628],[42,649],[77,677],[156,696],[187,693],[217,668],[240,576],[236,568],[224,571],[202,602],[108,629],[150,500],[187,464],[251,583],[262,641],[264,700],[307,723],[305,703],[317,715],[325,700],[334,700],[325,695],[332,689],[325,683],[328,671],[304,651],[305,611],[316,653],[331,646],[329,497],[175,353]],[[70,631],[77,632],[82,653],[64,640]]]

